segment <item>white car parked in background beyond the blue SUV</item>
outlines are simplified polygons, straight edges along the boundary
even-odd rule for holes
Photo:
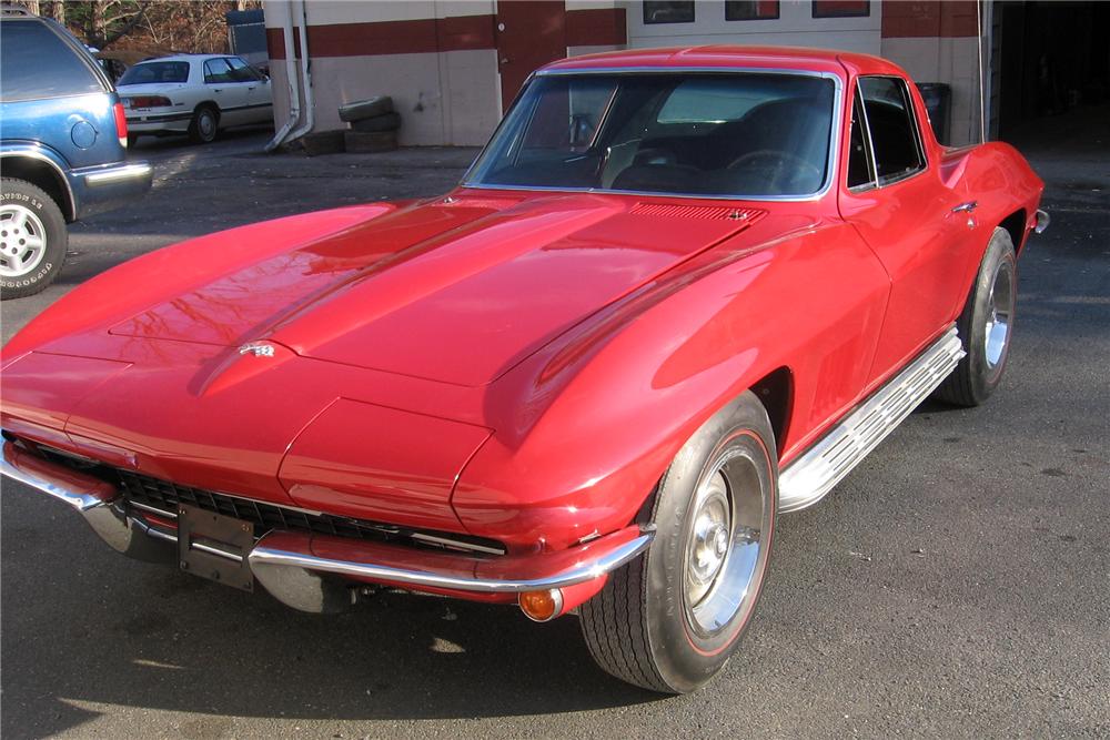
[[[124,72],[115,87],[131,143],[142,134],[172,133],[206,143],[221,129],[273,120],[270,78],[230,54],[150,59]]]

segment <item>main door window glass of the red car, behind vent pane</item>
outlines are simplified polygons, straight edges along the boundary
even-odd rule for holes
[[[898,78],[859,78],[879,184],[925,169],[917,121],[906,83]]]

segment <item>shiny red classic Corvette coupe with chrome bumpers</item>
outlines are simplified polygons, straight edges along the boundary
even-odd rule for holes
[[[1005,144],[938,145],[880,59],[564,60],[446,196],[191,240],[57,302],[4,349],[2,472],[297,609],[576,610],[606,671],[690,691],[778,514],[929,394],[998,386],[1041,191]]]

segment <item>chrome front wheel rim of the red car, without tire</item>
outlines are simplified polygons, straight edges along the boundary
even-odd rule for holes
[[[755,606],[769,525],[757,465],[744,450],[728,450],[694,495],[683,595],[687,620],[703,638],[715,637],[741,612],[746,618]]]

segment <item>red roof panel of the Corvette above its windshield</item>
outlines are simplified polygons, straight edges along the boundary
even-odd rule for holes
[[[665,49],[628,49],[572,57],[547,64],[545,71],[612,69],[615,72],[637,68],[758,68],[805,70],[845,74],[845,67],[860,73],[900,73],[891,62],[857,52],[794,47],[741,47],[714,44],[705,47],[670,47]]]

